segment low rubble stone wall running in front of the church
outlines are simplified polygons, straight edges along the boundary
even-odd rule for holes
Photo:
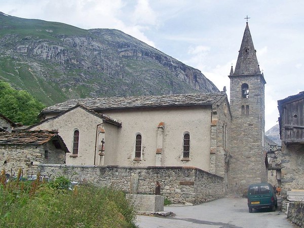
[[[112,186],[134,194],[154,194],[155,182],[161,184],[161,195],[173,204],[199,204],[224,196],[223,177],[195,167],[121,167],[71,166],[41,164],[38,170],[51,178],[64,175],[73,181],[88,181],[98,186]],[[137,178],[131,181],[132,178]],[[132,185],[131,185],[132,182]],[[132,188],[132,189],[131,189]]]

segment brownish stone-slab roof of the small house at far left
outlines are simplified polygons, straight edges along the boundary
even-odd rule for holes
[[[0,132],[0,144],[45,144],[57,138],[64,151],[69,152],[63,139],[54,131],[14,131]]]

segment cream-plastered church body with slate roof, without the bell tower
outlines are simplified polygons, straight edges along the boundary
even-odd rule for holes
[[[78,99],[48,107],[41,117],[28,130],[58,131],[72,152],[67,165],[225,172],[231,115],[223,92]]]

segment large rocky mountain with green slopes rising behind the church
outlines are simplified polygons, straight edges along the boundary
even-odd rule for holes
[[[0,80],[46,105],[73,98],[218,91],[198,69],[122,31],[1,12]]]

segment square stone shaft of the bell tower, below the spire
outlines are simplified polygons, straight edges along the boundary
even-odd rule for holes
[[[242,84],[249,86],[249,97],[242,97]],[[267,181],[264,163],[264,84],[261,74],[231,77],[230,160],[227,192],[243,195],[251,183]],[[242,113],[249,106],[249,114]]]

